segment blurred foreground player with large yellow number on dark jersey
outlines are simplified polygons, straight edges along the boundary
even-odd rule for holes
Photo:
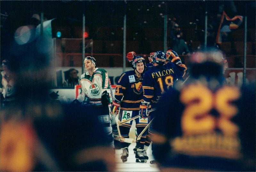
[[[255,171],[255,85],[226,85],[220,51],[191,60],[189,80],[157,104],[151,137],[159,169]]]

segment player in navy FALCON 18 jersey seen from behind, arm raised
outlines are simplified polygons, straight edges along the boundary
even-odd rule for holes
[[[153,55],[154,67],[144,74],[142,82],[144,98],[140,104],[140,116],[141,118],[148,118],[149,121],[154,118],[156,113],[153,111],[148,117],[148,108],[155,108],[162,94],[171,88],[176,80],[183,77],[187,70],[186,65],[181,63],[178,56],[173,57],[170,63],[164,65],[165,61],[166,54],[163,51],[155,52]],[[152,134],[151,130],[152,127],[149,126],[149,135]]]

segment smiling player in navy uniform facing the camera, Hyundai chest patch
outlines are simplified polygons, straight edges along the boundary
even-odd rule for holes
[[[129,52],[130,53],[130,52]],[[129,55],[129,53],[127,55]],[[143,72],[145,71],[145,59],[141,56],[136,56],[132,52],[132,67],[134,70],[124,72],[116,85],[115,98],[111,105],[111,112],[113,114],[118,114],[120,110],[119,121],[124,121],[129,118],[133,118],[139,115],[140,102],[143,100],[143,90],[142,90],[142,80]],[[127,58],[129,61],[129,59]],[[140,134],[141,131],[147,126],[148,119],[136,118],[137,133]],[[129,138],[130,128],[132,126],[132,121],[120,125],[120,134],[124,138]],[[143,133],[140,139],[139,147],[136,150],[135,158],[142,162],[147,158],[146,151],[144,150],[144,143],[146,139],[146,132]],[[123,153],[121,159],[123,162],[127,161],[128,146],[129,143],[121,141],[121,149]],[[146,158],[145,158],[146,156]]]

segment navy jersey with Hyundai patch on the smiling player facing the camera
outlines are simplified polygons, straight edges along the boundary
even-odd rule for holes
[[[124,72],[116,84],[115,99],[121,102],[122,110],[140,110],[140,102],[143,101],[142,89],[143,74],[140,77],[135,71]]]

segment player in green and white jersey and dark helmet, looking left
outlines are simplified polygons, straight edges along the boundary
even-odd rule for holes
[[[84,58],[84,67],[87,72],[80,76],[81,93],[73,103],[82,104],[84,108],[95,110],[94,112],[103,125],[109,142],[114,148],[112,126],[109,118],[110,87],[108,72],[104,69],[96,68],[96,60],[91,56]]]

